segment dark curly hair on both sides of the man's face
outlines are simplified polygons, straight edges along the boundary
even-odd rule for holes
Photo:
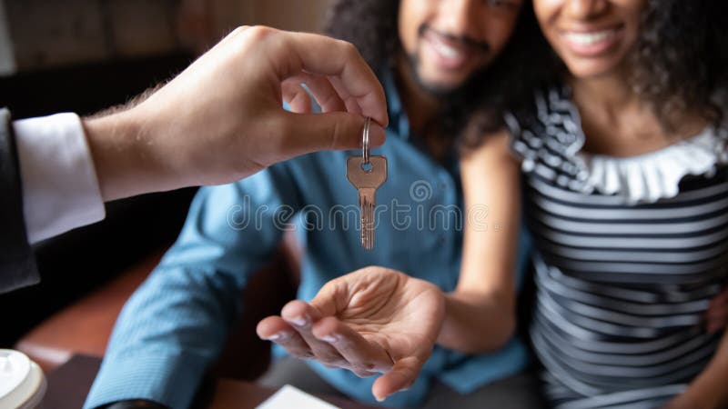
[[[356,45],[381,76],[383,70],[394,69],[402,52],[398,22],[399,1],[336,0],[329,8],[326,32]],[[510,105],[530,100],[534,87],[554,76],[554,66],[531,1],[526,1],[501,55],[445,100],[439,134],[449,142],[460,139],[461,145],[478,145],[480,135],[501,128]],[[471,125],[479,131],[464,132]]]

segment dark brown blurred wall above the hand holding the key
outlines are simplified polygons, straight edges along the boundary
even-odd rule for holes
[[[329,1],[0,0],[0,75],[198,53],[238,25],[316,32]]]

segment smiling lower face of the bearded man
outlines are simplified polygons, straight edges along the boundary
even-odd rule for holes
[[[524,0],[401,0],[399,39],[410,72],[433,95],[455,91],[490,65]]]

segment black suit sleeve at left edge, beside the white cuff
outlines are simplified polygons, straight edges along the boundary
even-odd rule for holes
[[[23,215],[23,188],[10,112],[0,109],[0,293],[40,281]]]

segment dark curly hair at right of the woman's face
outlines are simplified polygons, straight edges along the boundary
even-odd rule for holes
[[[672,131],[682,113],[724,125],[728,106],[728,2],[649,0],[631,55],[632,89]]]

